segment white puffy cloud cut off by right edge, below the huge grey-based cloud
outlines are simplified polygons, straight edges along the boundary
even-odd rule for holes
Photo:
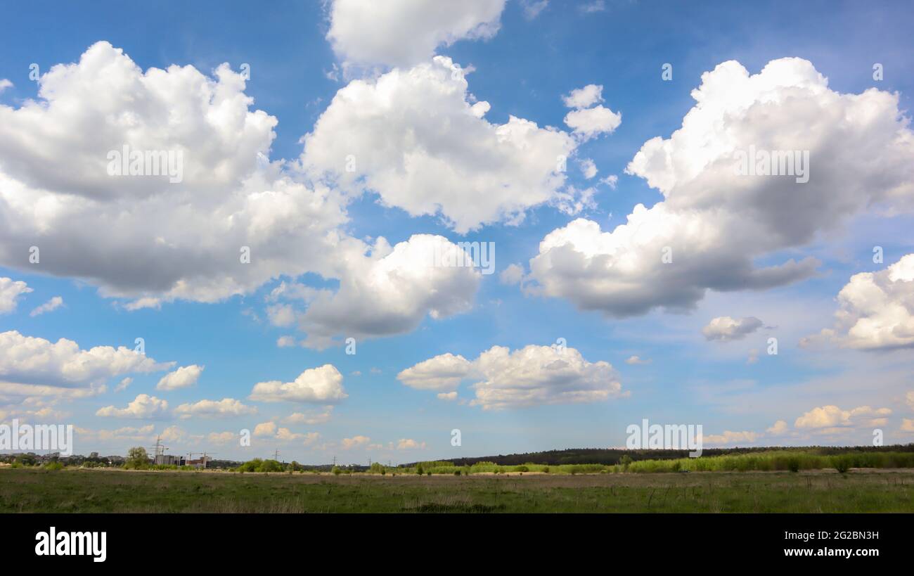
[[[914,254],[908,254],[880,272],[851,276],[838,293],[834,328],[803,338],[834,341],[862,350],[914,346]]]

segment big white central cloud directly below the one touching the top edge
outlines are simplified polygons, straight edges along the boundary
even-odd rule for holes
[[[305,137],[305,169],[412,216],[441,214],[461,233],[556,199],[575,140],[514,116],[488,122],[463,71],[436,57],[350,82]]]

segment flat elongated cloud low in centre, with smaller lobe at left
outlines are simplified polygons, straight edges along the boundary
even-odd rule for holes
[[[484,410],[542,404],[597,402],[624,396],[618,374],[609,362],[588,362],[575,348],[530,345],[512,352],[495,346],[472,362],[461,356],[433,357],[399,373],[401,382],[417,389],[456,389],[473,379]]]

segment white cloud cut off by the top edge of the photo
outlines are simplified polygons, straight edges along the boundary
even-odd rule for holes
[[[358,64],[410,66],[462,38],[493,37],[505,0],[334,0],[327,39]]]

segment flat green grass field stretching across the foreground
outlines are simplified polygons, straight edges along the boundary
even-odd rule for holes
[[[7,466],[0,512],[914,512],[914,471],[382,476]]]

